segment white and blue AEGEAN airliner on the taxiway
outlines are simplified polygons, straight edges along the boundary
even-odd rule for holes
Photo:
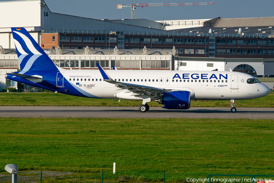
[[[65,70],[56,66],[24,28],[12,28],[21,71],[6,78],[80,97],[156,101],[165,109],[189,109],[191,100],[255,99],[270,89],[255,77],[232,71]]]

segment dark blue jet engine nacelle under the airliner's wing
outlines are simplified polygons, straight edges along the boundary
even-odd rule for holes
[[[164,95],[163,102],[165,109],[189,109],[190,108],[190,92],[189,91],[171,91]]]

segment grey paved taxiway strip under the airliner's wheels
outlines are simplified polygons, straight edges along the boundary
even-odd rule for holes
[[[76,117],[76,118],[211,118],[211,119],[274,119],[274,108],[191,107],[169,110],[150,107],[145,113],[139,107],[97,106],[0,106],[0,117]]]

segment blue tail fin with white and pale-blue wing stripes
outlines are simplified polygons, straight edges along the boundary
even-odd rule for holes
[[[12,27],[21,74],[28,70],[58,70],[26,29]]]

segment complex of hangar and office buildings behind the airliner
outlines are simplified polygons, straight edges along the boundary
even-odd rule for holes
[[[41,0],[1,1],[0,11],[0,90],[17,87],[4,75],[20,70],[10,27],[26,28],[65,69],[102,62],[105,69],[231,69],[274,77],[274,17],[97,20],[52,13]]]

